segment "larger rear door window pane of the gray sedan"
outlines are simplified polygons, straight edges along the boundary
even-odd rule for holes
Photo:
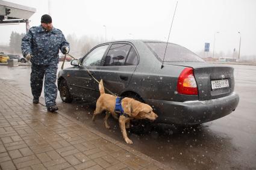
[[[105,57],[104,66],[125,65],[130,49],[130,44],[112,44]]]

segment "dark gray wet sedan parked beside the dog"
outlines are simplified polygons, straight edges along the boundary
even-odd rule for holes
[[[157,123],[201,124],[236,109],[239,96],[234,93],[234,68],[204,62],[178,44],[168,43],[165,49],[162,41],[99,44],[81,62],[73,60],[73,67],[58,73],[61,99],[98,99],[98,83],[88,69],[118,96],[134,97],[151,105],[158,114]]]

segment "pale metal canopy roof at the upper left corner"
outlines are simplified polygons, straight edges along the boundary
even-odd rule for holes
[[[26,29],[28,31],[28,19],[35,12],[36,8],[0,0],[0,25],[26,23]]]

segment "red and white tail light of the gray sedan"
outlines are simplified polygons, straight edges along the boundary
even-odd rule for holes
[[[198,86],[194,76],[193,68],[185,68],[178,77],[178,93],[188,95],[198,95]]]

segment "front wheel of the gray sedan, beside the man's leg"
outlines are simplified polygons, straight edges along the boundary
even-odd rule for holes
[[[66,80],[60,80],[58,90],[60,91],[60,98],[63,102],[71,103],[73,101],[73,96],[69,92]]]

